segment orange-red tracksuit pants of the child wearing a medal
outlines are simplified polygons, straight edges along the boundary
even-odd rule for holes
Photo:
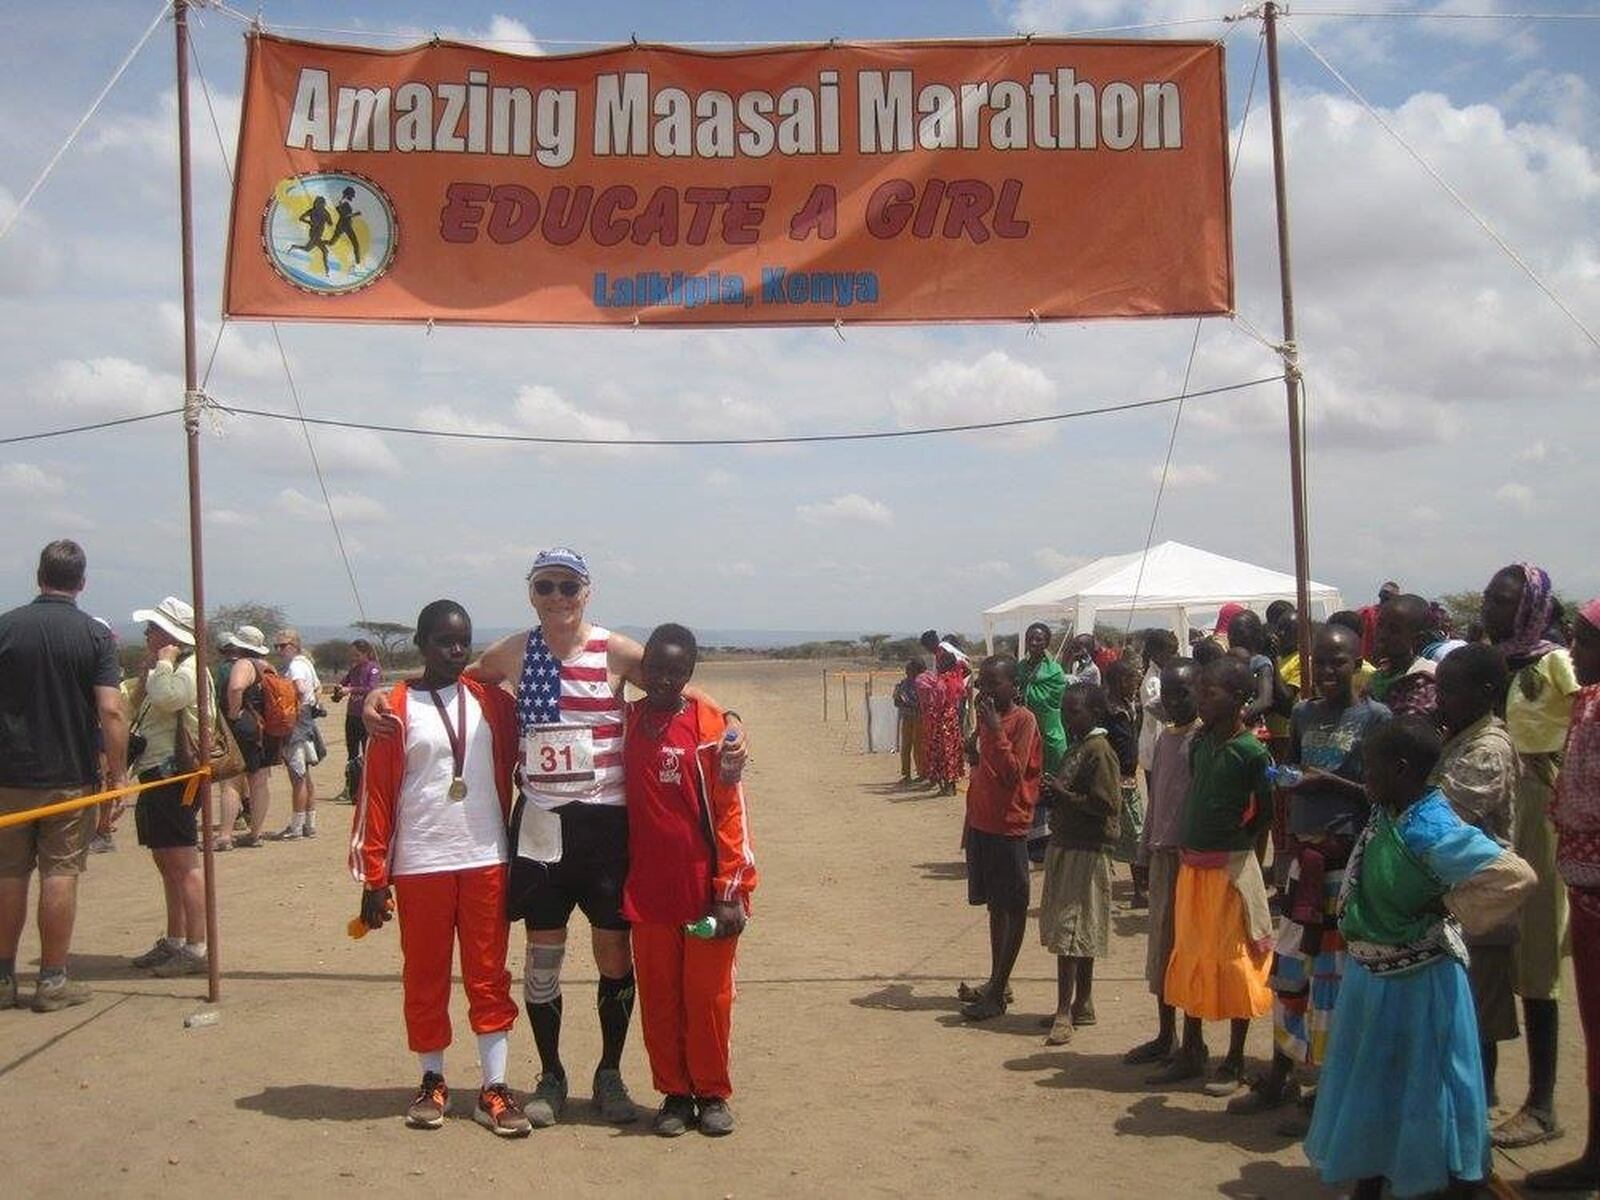
[[[474,1034],[498,1034],[517,1019],[506,970],[506,867],[397,875],[395,915],[405,960],[405,1032],[419,1054],[450,1045],[450,976],[461,942],[461,978]]]

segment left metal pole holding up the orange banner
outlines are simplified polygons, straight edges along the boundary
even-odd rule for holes
[[[195,606],[195,715],[200,720],[200,765],[211,762],[211,706],[206,688],[205,555],[200,541],[200,382],[195,355],[194,195],[189,179],[189,0],[173,0],[178,48],[178,211],[184,264],[184,437],[189,446],[189,574]],[[205,941],[210,962],[208,1000],[222,998],[222,950],[216,923],[216,861],[211,853],[211,779],[200,778],[200,856],[205,866]],[[190,934],[192,936],[192,934]]]

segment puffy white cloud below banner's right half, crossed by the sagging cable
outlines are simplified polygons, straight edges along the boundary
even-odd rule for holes
[[[976,362],[946,358],[928,366],[893,397],[901,429],[958,426],[1043,416],[1056,400],[1056,382],[1040,368],[1005,350],[989,350]],[[1054,426],[984,434],[982,440],[1006,450],[1040,446],[1054,437]]]

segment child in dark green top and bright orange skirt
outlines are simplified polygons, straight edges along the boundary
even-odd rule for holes
[[[1250,1021],[1272,1011],[1272,917],[1254,854],[1270,819],[1267,747],[1245,730],[1242,712],[1254,694],[1250,664],[1226,656],[1200,670],[1195,696],[1205,728],[1189,747],[1190,784],[1178,867],[1173,957],[1166,1003],[1184,1010],[1184,1042],[1152,1083],[1205,1074],[1202,1021],[1229,1021],[1227,1056],[1205,1085],[1229,1096],[1245,1082]]]

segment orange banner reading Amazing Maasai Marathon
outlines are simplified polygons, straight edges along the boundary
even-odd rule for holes
[[[1222,46],[522,56],[253,35],[230,317],[1226,314]]]

